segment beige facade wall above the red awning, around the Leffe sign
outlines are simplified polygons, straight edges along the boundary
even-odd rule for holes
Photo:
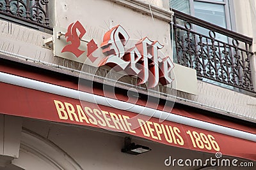
[[[127,29],[127,32],[131,38],[140,39],[143,36],[148,36],[150,39],[159,39],[160,43],[166,45],[163,52],[166,55],[170,55],[170,27],[168,22],[166,22],[168,12],[166,13],[166,11],[163,9],[157,10],[158,7],[156,7],[156,4],[152,4],[152,12],[156,17],[154,20],[152,20],[150,13],[147,13],[148,2],[141,3],[143,1],[140,1],[141,4],[137,4],[136,10],[131,10],[131,6],[135,4],[129,4],[127,3],[128,1],[122,1],[122,5],[120,2],[115,4],[113,1],[107,0],[80,0],[76,2],[77,4],[81,5],[73,5],[72,3],[74,3],[74,1],[70,0],[56,1],[56,3],[58,3],[58,5],[55,5],[56,18],[51,19],[52,24],[65,28],[68,26],[68,24],[76,21],[78,18],[88,30],[88,36],[95,37],[97,41],[100,41],[103,34],[102,32],[108,31],[111,25],[122,24],[125,29]],[[252,3],[253,1],[244,1],[244,3],[236,1],[235,3],[237,13],[237,30],[240,33],[253,36],[253,29],[256,27],[250,24],[254,24],[252,21],[254,20],[253,16],[255,15],[253,14],[253,11],[250,10],[252,8],[249,8],[249,2],[255,6],[255,3]],[[142,4],[144,4],[144,6]],[[160,4],[161,3],[157,5],[161,7]],[[97,6],[96,10],[94,8],[95,6]],[[249,10],[241,10],[241,8],[247,7]],[[84,8],[86,8],[86,10],[84,10]],[[113,9],[115,9],[115,11],[113,11]],[[143,15],[143,10],[147,15]],[[76,15],[79,17],[73,15],[74,11],[76,11]],[[79,11],[83,11],[83,13]],[[250,15],[247,15],[246,13],[250,13]],[[244,19],[239,17],[240,14],[241,17],[243,15]],[[52,16],[54,17],[54,15]],[[90,24],[88,24],[89,22]],[[249,25],[246,27],[246,24]],[[10,27],[10,25],[12,25],[12,29],[7,29]],[[93,33],[92,30],[97,30],[99,33]],[[52,50],[42,48],[42,42],[44,40],[43,37],[49,38],[52,36],[51,34],[35,31],[33,29],[29,29],[28,27],[23,27],[17,24],[12,24],[11,22],[0,20],[0,36],[3,40],[0,42],[0,50],[2,51],[1,53],[5,55],[10,55],[6,53],[9,52],[15,54],[10,55],[12,57],[20,58],[20,55],[22,55],[25,57],[30,57],[39,63],[49,62],[64,67],[70,67],[72,69],[81,68],[81,65],[75,64],[70,60],[54,57]],[[255,57],[253,57],[253,61],[254,58]],[[253,64],[256,66],[255,61]],[[255,73],[255,67],[253,67],[252,72]],[[184,83],[184,86],[189,87],[190,85],[189,83]],[[190,100],[186,101],[185,104],[189,104],[191,106],[211,110],[216,113],[230,115],[232,117],[242,117],[245,120],[253,122],[256,120],[255,97],[227,90],[209,83],[198,81],[197,96],[188,93],[181,93],[179,94],[179,97]]]

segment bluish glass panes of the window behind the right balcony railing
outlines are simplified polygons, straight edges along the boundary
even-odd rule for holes
[[[190,15],[226,29],[230,27],[229,13],[226,13],[226,11],[229,10],[227,0],[188,0],[186,2],[188,3],[188,6],[186,6],[186,8],[189,8],[189,3],[191,4]],[[182,11],[180,10],[182,8],[178,8],[178,6],[184,6],[184,4],[180,3],[180,0],[172,0],[170,4],[173,5],[173,8],[175,10],[179,11]],[[184,12],[184,10],[182,12]],[[178,23],[177,20],[176,23]],[[178,24],[182,25],[184,24],[184,22],[179,22]],[[214,76],[218,76],[218,78],[221,79],[220,75],[225,75],[225,73],[221,72],[221,67],[225,67],[225,69],[227,69],[229,73],[232,73],[232,67],[228,65],[221,65],[221,61],[223,61],[223,59],[225,59],[226,57],[230,56],[226,56],[226,54],[232,52],[229,46],[223,46],[223,44],[229,42],[228,37],[223,34],[219,34],[218,32],[213,33],[209,29],[201,27],[200,24],[192,24],[191,26],[193,31],[197,32],[198,34],[202,34],[202,36],[199,37],[193,35],[193,33],[188,34],[188,31],[184,29],[176,29],[175,35],[177,36],[177,39],[175,40],[177,41],[177,43],[174,43],[173,46],[173,48],[176,49],[173,51],[173,61],[178,62],[179,59],[180,64],[182,64],[183,66],[196,68],[197,71],[202,71],[202,68],[200,68],[201,70],[198,69],[198,67],[201,66],[200,63],[207,64],[207,67],[204,68],[204,71],[209,75],[211,73],[213,75],[211,78],[213,79]],[[198,42],[200,42],[200,44],[198,44]],[[178,47],[175,48],[175,45],[177,45]],[[180,46],[182,47],[180,48]],[[179,48],[182,50],[179,50]],[[194,52],[198,50],[200,50],[198,54],[201,55],[201,57],[196,57],[199,55],[194,55]],[[211,59],[209,59],[209,57],[211,57]],[[234,62],[233,59],[227,60]],[[225,76],[227,80],[227,74]],[[234,75],[232,74],[230,74],[229,76],[231,79],[234,78]],[[221,87],[226,87],[228,89],[234,89],[234,87],[231,87],[229,85],[225,85],[215,80],[211,80],[210,76],[206,77],[201,77],[202,81],[207,81],[209,83],[213,83]]]

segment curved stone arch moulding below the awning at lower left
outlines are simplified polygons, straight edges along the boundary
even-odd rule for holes
[[[76,160],[51,141],[22,129],[19,159],[4,167],[6,170],[37,169],[82,169]],[[0,169],[1,170],[1,169]]]

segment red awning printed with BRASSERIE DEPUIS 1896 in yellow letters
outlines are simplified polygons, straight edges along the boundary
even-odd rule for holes
[[[189,122],[188,124],[186,122],[177,123],[179,122],[177,120],[173,122],[164,120],[162,122],[159,118],[146,116],[150,113],[141,115],[68,96],[65,94],[65,90],[76,92],[76,82],[66,78],[61,78],[62,81],[60,81],[60,78],[54,78],[50,74],[40,74],[36,71],[28,72],[29,69],[18,69],[3,64],[0,66],[0,71],[4,72],[2,75],[6,75],[5,79],[1,78],[0,80],[2,81],[0,83],[0,113],[121,131],[170,146],[209,153],[221,152],[223,155],[256,160],[256,145],[253,141],[256,131],[253,127],[202,115],[197,113],[195,109],[191,110],[190,108],[188,110],[186,107],[174,107],[170,115],[173,118],[177,115],[184,120],[197,121],[212,127],[218,125],[216,128],[225,129],[228,127],[230,131],[236,129],[233,131],[235,134],[228,135],[225,132],[219,132],[218,129],[215,131],[214,128],[209,131],[198,125],[188,125]],[[6,78],[8,79],[8,76],[11,77],[13,74],[17,75],[17,80],[22,76],[22,81],[6,82]],[[49,84],[44,84],[44,82]],[[26,87],[26,83],[29,84],[28,87]],[[32,87],[33,83],[37,83],[37,86]],[[40,85],[42,85],[42,89],[44,89],[44,85],[49,85],[52,89],[48,92],[42,90]],[[59,89],[62,90],[60,94]],[[98,95],[92,95],[99,96],[100,90],[95,90],[95,92]],[[139,101],[138,106],[140,104],[143,102],[140,103]],[[146,109],[145,111],[152,110]],[[241,136],[237,138],[236,132],[244,134],[244,136],[252,136],[253,139],[243,139]]]

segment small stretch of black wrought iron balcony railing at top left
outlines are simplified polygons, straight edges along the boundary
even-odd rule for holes
[[[48,4],[48,0],[0,0],[0,14],[51,29]]]

